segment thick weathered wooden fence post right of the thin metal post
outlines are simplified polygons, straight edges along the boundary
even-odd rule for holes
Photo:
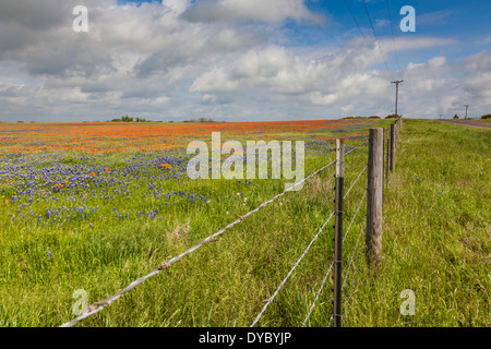
[[[384,181],[384,131],[370,129],[367,183],[367,260],[376,264],[382,252],[382,191]]]

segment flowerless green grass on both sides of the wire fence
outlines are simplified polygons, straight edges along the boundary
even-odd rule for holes
[[[491,325],[490,154],[488,130],[404,120],[396,173],[385,186],[382,261],[376,270],[368,270],[362,233],[344,290],[346,302],[354,286],[349,306],[344,306],[346,326]],[[309,157],[306,174],[333,158]],[[347,157],[346,189],[366,163],[366,149]],[[249,326],[334,209],[333,174],[333,167],[319,173],[303,190],[282,196],[77,326]],[[92,220],[93,229],[77,220],[49,231],[3,219],[0,326],[70,321],[74,290],[87,291],[89,303],[101,301],[203,240],[207,231],[236,220],[235,213],[242,215],[283,190],[283,181],[258,183],[180,183],[181,190],[197,188],[212,202],[177,204],[166,208],[164,219],[105,218]],[[366,173],[345,202],[345,228],[364,183]],[[137,193],[147,184],[134,185]],[[147,200],[137,197],[116,204],[151,208]],[[112,202],[100,209],[109,217]],[[363,219],[364,206],[345,241],[345,270]],[[259,326],[301,326],[332,262],[333,225],[334,219]],[[308,326],[327,325],[331,289],[330,277]],[[399,313],[405,289],[415,291],[415,316]]]

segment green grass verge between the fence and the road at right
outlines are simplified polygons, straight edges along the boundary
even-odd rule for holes
[[[348,326],[490,326],[490,131],[405,120],[384,197],[383,258]],[[416,296],[403,316],[400,291]]]

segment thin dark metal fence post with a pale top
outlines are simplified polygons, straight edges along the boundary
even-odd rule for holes
[[[334,327],[342,326],[342,288],[343,288],[343,193],[345,181],[345,144],[336,140],[336,196],[334,226]]]

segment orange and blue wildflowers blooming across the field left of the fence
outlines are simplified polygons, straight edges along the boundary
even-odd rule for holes
[[[206,204],[213,196],[187,180],[185,146],[193,140],[208,142],[214,131],[233,140],[306,140],[307,151],[318,156],[332,151],[338,136],[333,130],[357,140],[363,127],[352,121],[4,124],[1,219],[9,229],[20,225],[73,232],[106,221],[161,219],[169,206]]]

